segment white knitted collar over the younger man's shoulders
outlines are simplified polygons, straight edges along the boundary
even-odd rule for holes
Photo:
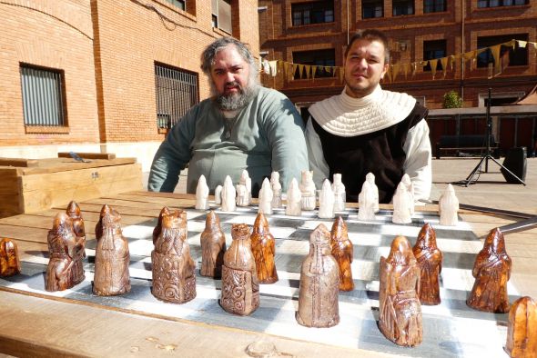
[[[309,107],[309,114],[330,134],[350,137],[380,131],[400,123],[416,104],[409,94],[384,91],[380,85],[361,98],[345,90]]]

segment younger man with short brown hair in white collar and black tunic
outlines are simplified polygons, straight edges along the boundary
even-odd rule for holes
[[[309,166],[319,185],[341,174],[347,200],[356,202],[366,175],[375,175],[380,203],[390,203],[403,174],[415,200],[431,193],[431,142],[427,109],[409,94],[384,91],[390,53],[386,35],[364,30],[345,52],[345,88],[309,107]],[[318,186],[319,187],[319,186]]]

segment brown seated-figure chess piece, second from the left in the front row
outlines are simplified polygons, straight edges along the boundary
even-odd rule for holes
[[[76,267],[81,267],[84,244],[77,239],[73,231],[71,218],[65,213],[58,213],[48,232],[48,266],[46,267],[46,291],[62,291],[76,285],[80,273],[74,273]],[[84,279],[84,272],[82,272]]]

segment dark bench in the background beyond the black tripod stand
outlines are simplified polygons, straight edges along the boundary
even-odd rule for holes
[[[494,140],[491,135],[491,150],[495,158],[500,157],[500,143]],[[456,152],[458,156],[461,152],[478,152],[487,149],[486,135],[441,135],[440,141],[436,143],[436,159],[441,158],[441,152]]]

